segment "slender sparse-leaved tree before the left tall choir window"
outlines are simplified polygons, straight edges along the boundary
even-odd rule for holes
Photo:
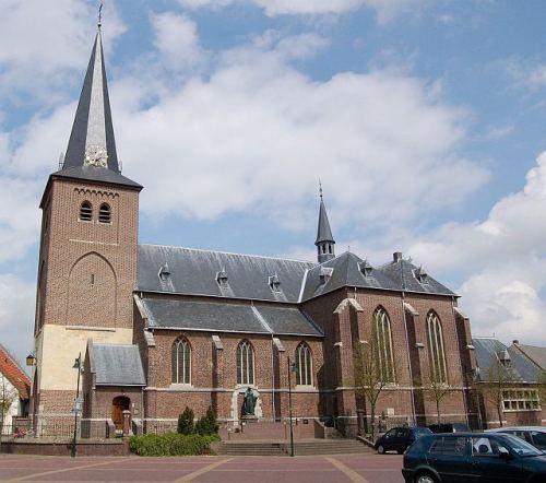
[[[370,341],[357,341],[354,344],[354,377],[355,391],[367,402],[370,408],[370,433],[373,439],[376,435],[376,407],[379,396],[384,387],[393,384],[393,375],[385,372],[385,365],[381,363],[380,344],[372,334]],[[394,360],[391,360],[394,367]]]

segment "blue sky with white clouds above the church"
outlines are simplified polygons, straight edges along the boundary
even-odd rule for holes
[[[39,199],[98,1],[0,0],[0,342],[33,347]],[[473,335],[546,344],[546,2],[105,0],[140,241],[313,260],[402,251]]]

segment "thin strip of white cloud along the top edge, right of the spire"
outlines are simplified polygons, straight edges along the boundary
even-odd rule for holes
[[[415,12],[424,0],[178,0],[183,7],[222,9],[230,4],[254,4],[268,16],[324,15],[368,8],[376,12],[380,24],[388,23],[402,13]]]

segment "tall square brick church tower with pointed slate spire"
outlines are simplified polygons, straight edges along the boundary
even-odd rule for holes
[[[141,189],[121,175],[99,24],[64,162],[49,176],[40,202],[33,385],[38,421],[73,417],[73,365],[87,339],[132,343]]]

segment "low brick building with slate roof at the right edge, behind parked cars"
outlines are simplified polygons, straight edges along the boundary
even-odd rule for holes
[[[541,426],[546,422],[546,347],[474,338],[475,396],[484,426]]]

